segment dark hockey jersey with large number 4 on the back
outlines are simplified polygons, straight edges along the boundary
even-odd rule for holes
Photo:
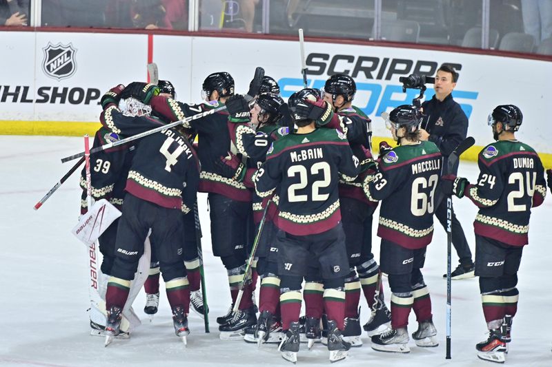
[[[111,105],[101,113],[101,123],[116,134],[135,135],[164,123],[152,117],[124,116]],[[166,129],[141,138],[128,171],[126,191],[160,207],[188,213],[199,184],[199,160],[177,129]]]

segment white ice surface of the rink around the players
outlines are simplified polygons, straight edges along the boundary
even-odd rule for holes
[[[484,143],[484,142],[480,142]],[[530,142],[529,142],[530,143]],[[145,295],[135,302],[140,326],[128,340],[116,339],[108,348],[103,338],[88,335],[88,258],[86,247],[70,233],[79,215],[80,189],[75,174],[41,209],[32,207],[68,171],[73,162],[62,165],[59,158],[83,149],[82,138],[0,136],[0,365],[1,366],[290,366],[275,346],[219,340],[218,315],[230,304],[226,272],[210,249],[206,196],[199,195],[203,249],[210,306],[210,330],[204,333],[203,320],[190,314],[188,348],[173,332],[170,308],[161,293],[159,313],[152,323],[142,312]],[[460,175],[477,177],[477,166],[461,162]],[[469,200],[455,200],[474,252],[472,222],[476,208]],[[552,366],[551,302],[552,200],[533,209],[530,244],[524,249],[519,272],[520,303],[513,322],[513,341],[506,364],[509,366]],[[377,222],[377,221],[375,221]],[[411,341],[411,353],[378,353],[364,346],[353,348],[351,357],[339,366],[492,366],[475,355],[475,343],[486,338],[477,279],[453,282],[452,359],[445,360],[446,233],[435,221],[433,243],[428,247],[422,270],[431,292],[433,319],[440,345],[419,348]],[[546,224],[548,223],[548,224]],[[376,225],[373,227],[374,233]],[[373,251],[379,258],[379,238]],[[457,258],[453,253],[453,267]],[[386,300],[390,299],[386,286]],[[368,319],[361,297],[362,324]],[[409,332],[417,328],[411,314]],[[299,365],[329,364],[328,351],[306,345],[299,351]]]

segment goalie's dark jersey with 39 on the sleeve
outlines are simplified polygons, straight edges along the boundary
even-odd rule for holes
[[[119,139],[118,134],[100,127],[94,136],[92,149],[110,142],[115,143]],[[126,177],[134,150],[135,144],[129,143],[90,154],[90,184],[94,200],[105,198],[117,209],[121,209],[125,196]],[[83,189],[81,195],[81,214],[83,214],[88,211],[86,168],[81,171],[79,184]]]

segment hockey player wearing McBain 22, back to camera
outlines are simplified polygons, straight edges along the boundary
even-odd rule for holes
[[[301,283],[309,266],[324,280],[324,306],[328,315],[328,350],[331,361],[346,357],[351,344],[342,340],[344,328],[344,275],[348,269],[339,213],[339,173],[354,180],[358,160],[346,136],[335,129],[316,129],[309,118],[313,105],[306,96],[289,101],[297,133],[275,141],[255,176],[262,198],[277,196],[278,271],[282,328],[282,357],[295,363],[299,351]],[[297,106],[303,109],[299,111]],[[306,107],[306,108],[305,108]]]

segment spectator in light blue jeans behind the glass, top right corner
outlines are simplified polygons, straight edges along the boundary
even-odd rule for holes
[[[523,27],[535,45],[552,37],[552,0],[522,0]]]

